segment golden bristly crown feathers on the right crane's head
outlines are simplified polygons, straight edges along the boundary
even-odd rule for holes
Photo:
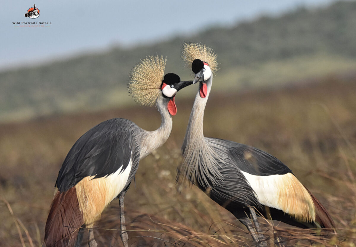
[[[184,42],[182,47],[182,59],[189,68],[195,59],[200,59],[208,63],[214,74],[219,70],[218,55],[216,55],[213,49],[202,43]]]

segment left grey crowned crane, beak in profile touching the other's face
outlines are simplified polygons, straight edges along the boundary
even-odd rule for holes
[[[172,130],[177,112],[176,93],[193,83],[164,75],[166,58],[149,56],[133,68],[129,93],[138,103],[156,104],[161,126],[147,131],[124,118],[106,120],[80,137],[64,159],[56,181],[54,199],[46,222],[47,247],[79,246],[84,228],[89,228],[89,246],[97,246],[93,224],[108,204],[119,197],[120,236],[127,245],[124,196],[134,178],[138,162],[159,148]],[[163,76],[164,75],[164,76]]]

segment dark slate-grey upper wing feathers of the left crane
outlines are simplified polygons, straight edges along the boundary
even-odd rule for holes
[[[56,186],[63,192],[84,177],[105,177],[123,172],[131,160],[127,185],[135,176],[140,160],[140,128],[123,118],[106,120],[91,128],[69,150],[59,170]]]

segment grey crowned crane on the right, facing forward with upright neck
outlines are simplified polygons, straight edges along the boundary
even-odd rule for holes
[[[334,228],[324,206],[286,165],[252,146],[204,137],[204,109],[217,70],[216,54],[200,43],[184,43],[182,58],[199,83],[177,169],[178,184],[188,180],[243,223],[253,240],[266,246],[255,209],[267,219],[302,228]],[[252,218],[252,222],[250,220]]]

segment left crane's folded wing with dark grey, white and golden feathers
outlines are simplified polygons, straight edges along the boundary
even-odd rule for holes
[[[70,149],[56,187],[57,194],[75,188],[83,212],[80,226],[92,225],[129,188],[138,168],[143,133],[130,120],[114,118],[88,130]]]

